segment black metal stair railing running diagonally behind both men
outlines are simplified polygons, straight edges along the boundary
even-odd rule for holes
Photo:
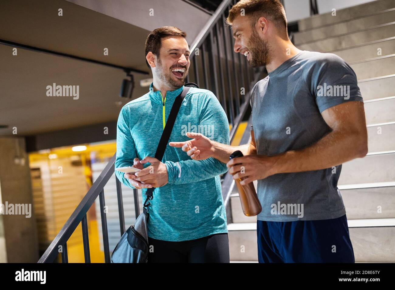
[[[200,88],[211,90],[217,96],[228,116],[229,125],[232,126],[229,136],[230,142],[233,141],[240,123],[244,119],[248,120],[246,112],[248,112],[249,107],[250,90],[263,73],[263,69],[257,71],[251,69],[244,56],[241,56],[240,53],[235,55],[233,52],[233,36],[230,27],[225,24],[225,19],[231,5],[236,2],[236,0],[222,1],[218,9],[216,9],[210,20],[196,37],[191,47],[190,58],[192,67],[189,70],[190,75],[187,77],[187,82],[196,82]],[[250,120],[248,122],[250,122]],[[249,126],[247,126],[242,142],[246,143],[248,141],[249,132]],[[84,196],[83,200],[81,200],[70,218],[66,221],[60,232],[41,256],[38,261],[39,263],[55,262],[59,253],[62,262],[67,263],[67,242],[79,223],[82,225],[85,262],[90,262],[87,212],[98,196],[100,200],[104,258],[106,263],[110,262],[104,186],[111,176],[113,176],[114,167],[115,154],[111,157],[100,173],[100,176],[88,190],[88,193]],[[121,183],[117,176],[114,175],[114,178],[117,186],[120,234],[122,235],[126,230],[122,190]],[[231,209],[228,200],[233,185],[234,182],[231,176],[226,174],[222,182],[222,194],[225,201],[228,223],[231,222]],[[134,189],[134,206],[135,216],[137,217],[140,214],[137,189]]]

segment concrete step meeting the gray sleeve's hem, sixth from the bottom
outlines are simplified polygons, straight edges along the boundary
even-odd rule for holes
[[[395,74],[358,81],[364,101],[395,96]]]

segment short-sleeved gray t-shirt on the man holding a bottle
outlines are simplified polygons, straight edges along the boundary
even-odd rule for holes
[[[331,53],[302,51],[252,88],[257,154],[273,156],[311,146],[331,131],[321,112],[363,101],[353,69]],[[337,188],[341,165],[281,173],[258,180],[260,221],[334,219],[346,213]]]

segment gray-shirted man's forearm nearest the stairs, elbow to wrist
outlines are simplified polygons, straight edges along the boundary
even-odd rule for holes
[[[332,131],[302,150],[291,150],[273,156],[275,173],[320,170],[340,165],[367,153],[364,134]]]

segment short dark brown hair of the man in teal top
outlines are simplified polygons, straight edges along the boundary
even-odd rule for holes
[[[147,56],[148,52],[152,52],[157,57],[159,57],[161,41],[162,38],[166,36],[182,36],[185,38],[186,32],[174,26],[163,26],[152,30],[145,40],[145,56]],[[148,68],[151,68],[147,62],[147,59],[145,62],[147,63]]]

